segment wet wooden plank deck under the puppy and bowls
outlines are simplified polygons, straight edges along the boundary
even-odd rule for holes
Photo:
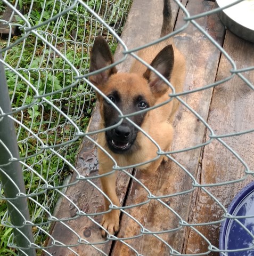
[[[184,0],[185,1],[185,0]],[[215,8],[214,2],[195,0],[183,4],[187,10],[194,15]],[[134,0],[128,21],[125,26],[122,39],[128,47],[142,45],[157,39],[161,28],[162,1]],[[178,14],[178,15],[177,15]],[[174,5],[175,29],[183,24],[183,12]],[[196,20],[235,61],[237,68],[254,66],[254,44],[244,41],[225,30],[217,15]],[[198,29],[190,25],[175,36],[175,43],[183,52],[187,61],[187,75],[185,91],[197,89],[207,84],[219,81],[227,77],[232,68],[230,62],[220,53],[211,42],[202,35]],[[116,53],[116,59],[120,58],[121,49]],[[129,61],[118,66],[120,71],[127,71]],[[245,72],[244,76],[254,82],[254,71]],[[202,90],[187,94],[182,99],[191,106],[216,134],[228,134],[253,129],[254,121],[254,92],[240,79],[234,77],[230,82],[219,85],[215,88]],[[97,109],[94,111],[89,131],[98,129],[99,115]],[[207,141],[209,132],[206,126],[191,113],[189,109],[181,106],[175,122],[175,139],[172,150],[180,150],[199,145]],[[158,127],[159,129],[159,127]],[[93,136],[96,139],[96,135]],[[240,136],[223,138],[237,154],[239,154],[250,170],[254,170],[254,134],[247,133]],[[181,163],[199,183],[203,185],[232,181],[244,177],[244,167],[236,157],[227,150],[222,143],[213,140],[209,145],[183,153],[174,154],[175,159]],[[96,177],[97,175],[96,148],[93,143],[84,140],[77,159],[77,169],[81,175]],[[153,175],[146,176],[132,170],[135,177],[140,180],[153,195],[170,195],[187,191],[193,188],[192,179],[178,165],[168,162],[160,167]],[[71,182],[76,181],[76,175],[72,175]],[[224,206],[228,206],[239,189],[246,185],[250,178],[242,182],[231,183],[224,186],[208,186],[210,191]],[[99,179],[92,179],[95,185],[100,187]],[[132,181],[125,174],[119,173],[117,191],[121,205],[135,205],[147,199],[146,191]],[[70,198],[82,211],[100,213],[103,211],[103,196],[85,180],[80,180],[75,186],[70,186],[65,195]],[[219,205],[204,193],[196,188],[191,193],[168,197],[162,199],[166,205],[170,205],[184,221],[198,224],[217,221],[222,218],[222,210]],[[166,206],[156,200],[149,204],[137,206],[126,210],[146,229],[150,231],[165,231],[180,227],[179,218]],[[57,218],[76,217],[73,220],[63,223],[56,222],[52,228],[51,235],[55,244],[78,245],[71,247],[78,255],[136,255],[126,244],[132,246],[142,255],[170,255],[170,249],[158,238],[143,234],[135,239],[127,239],[125,243],[105,241],[101,238],[99,227],[87,217],[79,217],[77,209],[67,199],[62,198]],[[94,218],[100,222],[101,216]],[[137,236],[141,227],[129,218],[126,214],[121,217],[121,229],[119,238]],[[196,226],[196,229],[206,236],[210,243],[218,246],[219,224]],[[75,233],[73,233],[75,231]],[[208,251],[208,243],[196,232],[187,227],[182,227],[173,232],[158,234],[158,237],[165,240],[174,250],[187,253],[202,253]],[[86,245],[83,238],[96,245],[105,254],[95,250],[91,245]],[[48,241],[51,244],[52,239]],[[54,246],[48,249],[53,255],[76,255],[67,248]],[[216,253],[210,253],[216,254]],[[217,254],[216,254],[217,255]]]

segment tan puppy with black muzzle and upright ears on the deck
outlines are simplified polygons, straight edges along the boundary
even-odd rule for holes
[[[170,23],[171,6],[169,0],[164,0],[161,37],[172,31]],[[174,86],[176,92],[183,90],[185,59],[171,38],[140,50],[138,56],[158,70]],[[102,36],[96,37],[91,51],[90,71],[108,67],[113,62],[105,39]],[[100,106],[100,127],[108,128],[105,132],[99,133],[97,140],[99,145],[115,159],[118,166],[144,163],[136,169],[148,174],[154,173],[166,157],[162,155],[153,162],[145,163],[158,156],[158,147],[138,127],[148,133],[161,150],[165,152],[170,150],[174,134],[172,122],[179,106],[177,99],[169,101],[169,94],[172,92],[170,86],[137,60],[134,61],[129,73],[118,73],[116,67],[111,67],[99,74],[91,75],[89,80],[107,97],[96,92]],[[135,125],[126,118],[119,118],[119,111],[112,104],[114,103],[123,115],[127,115],[165,101],[169,102],[158,108],[129,116]],[[99,174],[113,170],[112,159],[100,148],[98,148],[98,158]],[[111,202],[119,206],[116,195],[116,172],[103,175],[101,184],[102,190]],[[109,211],[111,203],[105,197],[104,200],[107,213],[103,215],[101,225],[109,234],[116,234],[119,231],[120,211],[118,209]],[[104,229],[102,229],[102,237],[107,234]]]

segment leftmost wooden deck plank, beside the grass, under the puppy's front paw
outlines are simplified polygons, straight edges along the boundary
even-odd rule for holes
[[[178,6],[173,6],[174,19],[178,12]],[[145,13],[146,15],[141,15]],[[128,15],[128,19],[125,25],[125,29],[122,33],[122,40],[127,46],[132,49],[140,46],[144,43],[148,43],[151,40],[157,39],[160,35],[160,29],[162,24],[162,1],[142,1],[135,0]],[[140,26],[137,26],[140,25]],[[115,59],[121,58],[121,47],[118,47],[115,55]],[[128,71],[130,67],[129,58],[124,63],[117,66],[119,71]],[[91,123],[89,124],[88,131],[96,131],[99,129],[99,109],[94,109]],[[96,140],[97,135],[92,135],[92,138]],[[76,167],[81,175],[94,177],[98,174],[96,147],[92,142],[84,139],[83,145],[80,148]],[[72,175],[71,181],[76,181],[76,174]],[[100,187],[99,179],[92,180],[96,186]],[[117,178],[117,194],[120,198],[120,204],[124,201],[126,190],[128,187],[129,178],[127,175],[119,173]],[[86,213],[100,213],[104,209],[104,200],[101,193],[95,189],[92,185],[89,185],[87,181],[80,180],[76,185],[71,186],[65,193],[69,199]],[[58,219],[75,217],[76,208],[66,199],[61,198],[60,207],[56,212]],[[95,221],[100,222],[101,216],[94,217]],[[77,219],[65,222],[71,229],[73,229],[78,235],[75,235],[73,231],[65,227],[62,223],[56,222],[52,227],[51,235],[56,240],[65,245],[76,245],[78,239],[86,239],[91,243],[104,242],[102,245],[96,245],[96,247],[106,254],[109,254],[111,242],[106,242],[101,238],[101,232],[99,227],[89,220],[87,217],[78,217]],[[49,239],[48,245],[52,243],[52,239]],[[84,241],[83,241],[84,243]],[[57,244],[57,243],[56,243]],[[91,245],[79,245],[72,247],[72,250],[79,255],[100,255],[101,253],[94,249]],[[73,255],[71,250],[65,247],[53,246],[48,249],[48,252],[55,255]]]

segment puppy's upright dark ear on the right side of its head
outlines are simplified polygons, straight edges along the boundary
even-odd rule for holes
[[[170,44],[163,48],[150,65],[169,81],[174,67],[173,46]],[[146,69],[143,77],[149,81],[149,86],[153,93],[161,95],[167,91],[168,85],[149,68]]]

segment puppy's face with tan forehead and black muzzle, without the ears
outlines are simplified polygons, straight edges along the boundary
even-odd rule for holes
[[[154,97],[149,89],[148,82],[136,74],[119,73],[110,76],[105,84],[103,93],[108,97],[108,99],[99,97],[101,115],[105,127],[110,127],[120,122],[119,111],[112,106],[111,102],[124,115],[144,110],[154,103]],[[138,126],[142,126],[146,114],[144,112],[133,115],[129,119]],[[138,131],[132,123],[123,119],[120,125],[105,132],[109,148],[117,154],[132,151],[134,145],[138,146],[135,143]]]

